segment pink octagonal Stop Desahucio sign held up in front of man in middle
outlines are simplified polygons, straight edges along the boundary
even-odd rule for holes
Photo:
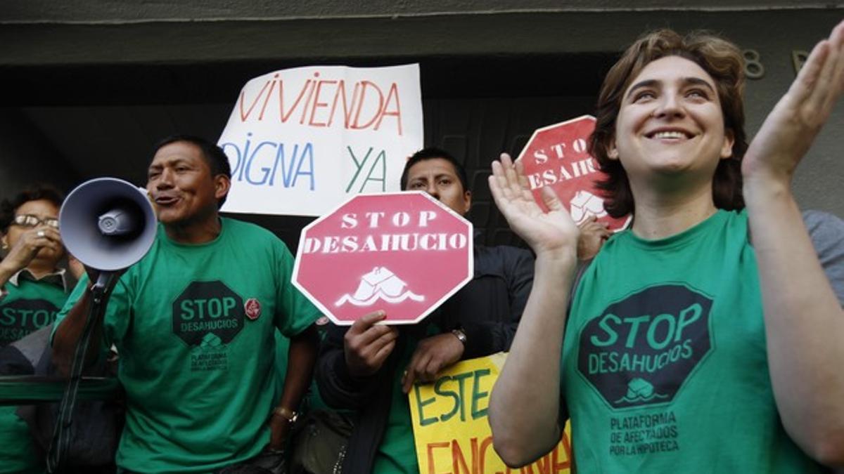
[[[361,194],[302,229],[293,284],[334,323],[425,318],[473,276],[472,223],[425,192]]]

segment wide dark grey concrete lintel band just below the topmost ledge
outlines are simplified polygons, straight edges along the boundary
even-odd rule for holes
[[[0,66],[532,55],[619,51],[642,31],[722,31],[738,42],[820,39],[844,8],[434,14],[417,17],[0,24]]]

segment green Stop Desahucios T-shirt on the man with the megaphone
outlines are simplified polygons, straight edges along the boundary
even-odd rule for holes
[[[273,333],[293,337],[317,319],[290,284],[284,243],[220,220],[217,239],[202,245],[177,244],[160,226],[111,294],[103,336],[120,354],[127,395],[116,456],[124,469],[209,471],[257,455],[275,403]]]

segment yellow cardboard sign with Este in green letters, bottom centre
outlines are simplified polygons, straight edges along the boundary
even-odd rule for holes
[[[410,391],[420,474],[560,474],[571,467],[571,428],[560,443],[531,465],[510,469],[492,448],[487,421],[492,385],[506,353],[453,365],[432,384]]]

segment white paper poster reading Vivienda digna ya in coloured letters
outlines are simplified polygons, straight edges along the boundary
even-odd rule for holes
[[[317,216],[353,194],[399,191],[407,157],[423,146],[419,65],[253,78],[218,144],[232,171],[223,211]]]

